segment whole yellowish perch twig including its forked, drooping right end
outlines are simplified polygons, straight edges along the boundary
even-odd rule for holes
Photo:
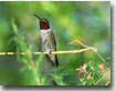
[[[81,49],[81,50],[72,50],[72,51],[53,51],[51,52],[51,54],[57,54],[57,53],[81,53],[81,52],[84,52],[84,51],[87,51],[87,50],[92,50],[93,52],[95,52],[97,54],[97,57],[103,61],[103,62],[106,62],[105,59],[97,52],[97,49],[94,48],[94,47],[88,47],[86,44],[84,44],[83,42],[81,42],[78,39],[77,40],[74,40],[73,42],[68,43],[68,44],[72,44],[72,43],[80,43],[82,47],[84,47],[85,49]],[[50,52],[33,52],[33,54],[49,54]],[[0,55],[14,55],[17,54],[17,52],[0,52]],[[21,55],[24,55],[25,53],[24,52],[21,52],[20,53]]]

